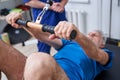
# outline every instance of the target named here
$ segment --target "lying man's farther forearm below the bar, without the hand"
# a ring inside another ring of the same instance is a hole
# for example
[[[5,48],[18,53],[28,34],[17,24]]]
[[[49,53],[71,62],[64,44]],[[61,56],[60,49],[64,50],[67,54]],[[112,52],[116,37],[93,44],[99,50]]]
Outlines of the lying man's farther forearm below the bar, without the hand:
[[[61,39],[56,38],[50,40],[50,33],[48,32],[42,32],[40,29],[35,29],[34,27],[26,28],[26,31],[32,33],[33,36],[36,37],[39,41],[45,42],[46,44],[53,46],[56,49],[59,49],[62,46]]]

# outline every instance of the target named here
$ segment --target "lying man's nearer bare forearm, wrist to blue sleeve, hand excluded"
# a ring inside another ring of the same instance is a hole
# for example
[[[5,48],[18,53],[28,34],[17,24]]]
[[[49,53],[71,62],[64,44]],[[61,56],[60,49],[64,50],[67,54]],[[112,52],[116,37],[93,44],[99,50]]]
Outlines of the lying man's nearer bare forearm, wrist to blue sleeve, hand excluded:
[[[103,65],[107,63],[108,54],[99,49],[89,38],[80,33],[75,40],[82,46],[88,57]]]

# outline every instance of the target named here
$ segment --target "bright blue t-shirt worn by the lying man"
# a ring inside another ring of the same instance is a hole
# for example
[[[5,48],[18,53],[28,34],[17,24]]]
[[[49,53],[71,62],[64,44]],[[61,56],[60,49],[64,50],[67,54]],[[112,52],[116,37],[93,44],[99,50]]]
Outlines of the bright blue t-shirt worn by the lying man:
[[[82,47],[73,41],[62,40],[63,46],[54,56],[57,63],[62,67],[70,80],[94,80],[101,71],[112,66],[112,52],[103,49],[110,56],[106,66],[90,59]]]

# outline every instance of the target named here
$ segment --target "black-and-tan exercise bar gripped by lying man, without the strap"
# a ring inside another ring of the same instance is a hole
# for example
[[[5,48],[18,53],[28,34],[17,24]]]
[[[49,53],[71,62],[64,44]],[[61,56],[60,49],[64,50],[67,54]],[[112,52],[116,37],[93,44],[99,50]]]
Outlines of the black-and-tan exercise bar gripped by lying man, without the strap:
[[[27,26],[27,27],[34,27],[34,28],[42,30],[43,32],[49,32],[51,34],[54,34],[54,26],[36,24],[30,21],[25,21],[21,19],[16,20],[16,23],[19,25]],[[73,30],[70,34],[70,39],[75,39],[76,34],[77,32]]]

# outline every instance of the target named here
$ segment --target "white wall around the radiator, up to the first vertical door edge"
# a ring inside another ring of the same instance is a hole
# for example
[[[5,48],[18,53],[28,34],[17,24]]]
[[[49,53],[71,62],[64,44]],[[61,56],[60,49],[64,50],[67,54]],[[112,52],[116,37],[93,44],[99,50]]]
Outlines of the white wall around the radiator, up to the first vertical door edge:
[[[77,2],[76,2],[77,1]],[[70,0],[66,9],[81,10],[86,13],[86,32],[102,29],[102,0]],[[85,33],[86,33],[85,32]]]

